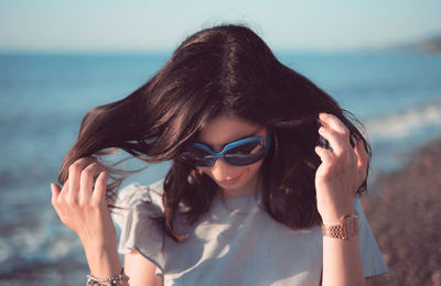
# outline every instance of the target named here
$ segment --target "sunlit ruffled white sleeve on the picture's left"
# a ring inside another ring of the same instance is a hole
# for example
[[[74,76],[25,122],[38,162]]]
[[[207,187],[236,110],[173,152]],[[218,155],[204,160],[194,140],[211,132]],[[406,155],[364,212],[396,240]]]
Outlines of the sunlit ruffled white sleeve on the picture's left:
[[[118,252],[127,254],[131,250],[138,251],[157,265],[157,275],[160,275],[164,266],[164,240],[153,218],[162,215],[162,199],[161,193],[152,186],[135,183],[122,188],[115,200],[116,208],[111,217],[120,229]]]

